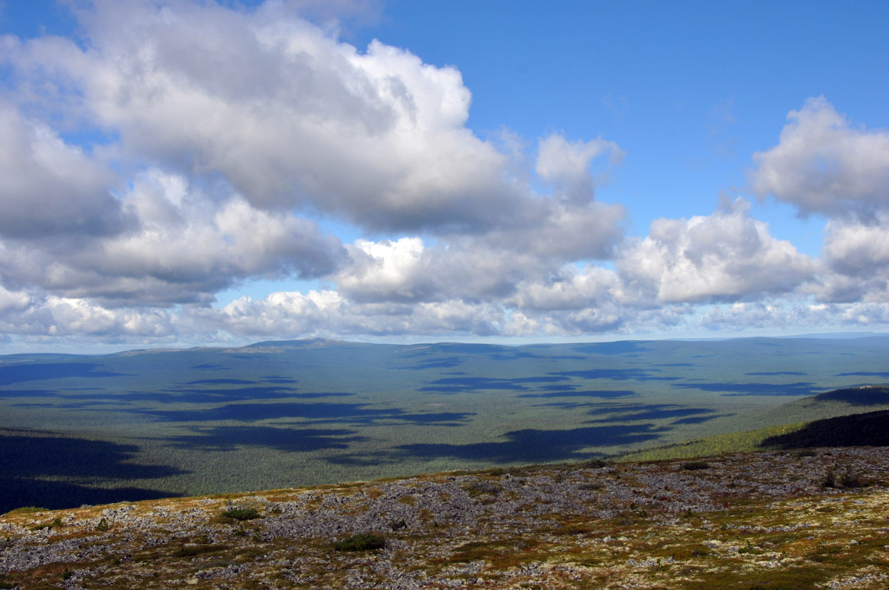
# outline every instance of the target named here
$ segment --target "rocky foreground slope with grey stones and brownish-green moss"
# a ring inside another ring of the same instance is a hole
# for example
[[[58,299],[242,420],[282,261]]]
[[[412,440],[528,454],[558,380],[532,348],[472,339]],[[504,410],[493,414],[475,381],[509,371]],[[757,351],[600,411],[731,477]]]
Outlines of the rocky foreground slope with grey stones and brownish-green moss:
[[[540,466],[0,517],[3,588],[885,588],[889,450]]]

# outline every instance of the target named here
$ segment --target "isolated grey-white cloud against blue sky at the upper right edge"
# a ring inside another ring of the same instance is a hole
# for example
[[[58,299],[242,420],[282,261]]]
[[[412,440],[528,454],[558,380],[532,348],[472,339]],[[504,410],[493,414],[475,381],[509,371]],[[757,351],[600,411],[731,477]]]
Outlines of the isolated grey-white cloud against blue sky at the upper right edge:
[[[803,214],[889,211],[889,132],[850,124],[824,97],[790,111],[781,142],[754,154],[753,189]]]

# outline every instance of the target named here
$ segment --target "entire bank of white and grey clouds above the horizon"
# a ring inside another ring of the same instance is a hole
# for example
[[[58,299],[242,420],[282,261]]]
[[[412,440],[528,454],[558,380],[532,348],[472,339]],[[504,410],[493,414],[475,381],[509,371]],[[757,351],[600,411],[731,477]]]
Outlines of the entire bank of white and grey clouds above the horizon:
[[[617,142],[480,139],[458,69],[344,43],[302,18],[319,5],[97,0],[75,9],[76,40],[0,37],[7,340],[533,339],[889,318],[889,132],[819,97],[752,155],[755,195],[826,219],[820,259],[742,197],[629,235],[627,209],[597,197],[632,157]],[[216,300],[288,278],[317,286]]]

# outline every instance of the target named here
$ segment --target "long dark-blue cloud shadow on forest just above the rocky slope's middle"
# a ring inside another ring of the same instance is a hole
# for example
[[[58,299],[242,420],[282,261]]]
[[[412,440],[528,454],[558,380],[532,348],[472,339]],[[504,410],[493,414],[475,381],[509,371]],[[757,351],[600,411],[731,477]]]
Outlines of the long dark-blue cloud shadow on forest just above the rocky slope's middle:
[[[662,429],[652,424],[633,426],[581,427],[570,430],[515,430],[502,436],[502,442],[474,442],[469,444],[405,444],[395,448],[389,461],[416,459],[457,458],[492,463],[543,463],[589,458],[587,447],[609,447],[646,442],[658,438]],[[370,466],[380,463],[380,457],[348,455],[327,458],[332,463]]]

